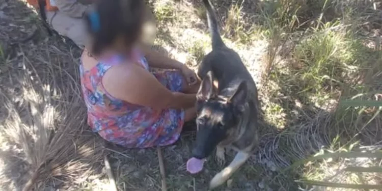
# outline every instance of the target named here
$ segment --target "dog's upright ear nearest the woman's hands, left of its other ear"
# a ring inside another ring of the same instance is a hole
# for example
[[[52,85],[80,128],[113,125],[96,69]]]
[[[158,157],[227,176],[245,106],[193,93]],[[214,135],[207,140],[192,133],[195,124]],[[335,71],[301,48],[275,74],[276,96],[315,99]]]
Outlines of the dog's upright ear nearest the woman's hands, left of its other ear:
[[[207,75],[203,78],[199,91],[196,94],[198,100],[208,100],[215,96],[215,88],[213,87],[213,73],[208,71]]]

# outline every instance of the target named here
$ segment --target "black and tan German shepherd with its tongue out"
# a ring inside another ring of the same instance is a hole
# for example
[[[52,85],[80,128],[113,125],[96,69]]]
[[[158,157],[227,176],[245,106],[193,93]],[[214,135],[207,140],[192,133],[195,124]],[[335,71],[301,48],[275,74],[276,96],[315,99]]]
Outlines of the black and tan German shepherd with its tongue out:
[[[225,148],[237,151],[231,163],[211,180],[209,188],[213,189],[226,182],[257,148],[258,95],[255,81],[239,55],[224,44],[210,2],[203,3],[212,51],[197,72],[202,83],[197,93],[198,132],[192,155],[204,159],[216,147],[217,159],[224,163]]]

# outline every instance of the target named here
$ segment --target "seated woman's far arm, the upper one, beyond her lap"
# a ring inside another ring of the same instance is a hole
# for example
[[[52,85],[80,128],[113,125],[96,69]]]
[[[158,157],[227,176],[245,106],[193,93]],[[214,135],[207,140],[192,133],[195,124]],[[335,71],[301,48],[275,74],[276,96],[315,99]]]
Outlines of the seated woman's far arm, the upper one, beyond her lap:
[[[183,67],[187,67],[184,64],[163,56],[161,53],[152,50],[146,46],[142,47],[143,53],[147,59],[147,62],[151,67],[164,68],[164,69],[178,69],[182,70]]]

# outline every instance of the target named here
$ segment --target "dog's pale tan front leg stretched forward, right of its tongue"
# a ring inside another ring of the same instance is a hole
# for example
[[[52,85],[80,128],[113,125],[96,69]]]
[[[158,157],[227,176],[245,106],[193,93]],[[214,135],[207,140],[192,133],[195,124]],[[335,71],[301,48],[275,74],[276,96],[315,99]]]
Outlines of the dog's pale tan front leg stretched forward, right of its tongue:
[[[217,186],[220,186],[226,182],[232,176],[232,174],[236,172],[244,164],[245,161],[248,160],[249,157],[250,154],[248,153],[244,153],[242,151],[238,152],[230,165],[228,165],[226,168],[220,171],[220,173],[217,173],[212,178],[209,183],[209,188],[216,188]]]

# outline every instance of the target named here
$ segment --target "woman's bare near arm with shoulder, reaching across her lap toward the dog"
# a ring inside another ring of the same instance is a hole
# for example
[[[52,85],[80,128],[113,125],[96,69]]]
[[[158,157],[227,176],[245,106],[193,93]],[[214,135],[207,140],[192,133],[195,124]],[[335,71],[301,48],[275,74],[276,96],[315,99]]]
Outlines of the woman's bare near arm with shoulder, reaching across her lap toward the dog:
[[[171,92],[152,74],[137,65],[111,68],[103,76],[102,83],[114,97],[156,110],[189,108],[196,102],[195,94]]]

